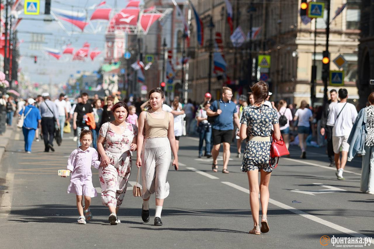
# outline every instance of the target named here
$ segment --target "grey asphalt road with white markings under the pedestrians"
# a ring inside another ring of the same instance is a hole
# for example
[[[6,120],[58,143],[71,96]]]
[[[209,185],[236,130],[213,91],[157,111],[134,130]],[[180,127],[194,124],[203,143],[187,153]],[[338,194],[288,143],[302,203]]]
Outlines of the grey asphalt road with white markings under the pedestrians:
[[[15,132],[0,167],[6,179],[0,186],[1,248],[332,248],[331,242],[321,245],[322,236],[374,237],[374,196],[359,192],[361,158],[348,163],[346,180],[338,181],[324,148],[310,148],[301,160],[298,147],[291,147],[291,158],[281,158],[272,173],[270,231],[252,235],[248,179],[234,146],[230,173],[221,173],[222,160],[214,173],[211,159],[197,158],[198,139],[190,137],[181,138],[180,170],[169,170],[162,227],[153,226],[153,197],[151,221],[142,222],[141,198],[130,190],[135,166],[119,212],[122,223],[108,223],[98,196],[92,198],[93,220],[78,225],[75,196],[66,193],[69,178],[57,175],[76,144],[70,134],[65,137],[54,153],[44,153],[40,141],[25,154],[23,135]],[[99,190],[98,171],[92,172]]]

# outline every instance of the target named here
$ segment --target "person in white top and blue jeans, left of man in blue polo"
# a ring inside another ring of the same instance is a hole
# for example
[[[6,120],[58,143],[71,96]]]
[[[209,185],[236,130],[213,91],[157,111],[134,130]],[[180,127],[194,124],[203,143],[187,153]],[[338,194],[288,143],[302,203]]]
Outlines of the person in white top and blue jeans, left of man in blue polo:
[[[204,156],[210,158],[211,154],[211,138],[212,138],[212,124],[208,122],[208,115],[206,110],[210,107],[210,101],[203,104],[203,109],[200,109],[196,114],[197,131],[199,132],[199,158],[203,156],[203,143],[205,140],[205,154]]]

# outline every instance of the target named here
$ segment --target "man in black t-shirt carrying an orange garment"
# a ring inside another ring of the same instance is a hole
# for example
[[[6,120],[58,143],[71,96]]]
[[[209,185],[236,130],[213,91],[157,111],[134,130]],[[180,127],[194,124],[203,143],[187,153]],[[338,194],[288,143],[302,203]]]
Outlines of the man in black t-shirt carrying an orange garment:
[[[78,131],[78,146],[80,146],[80,132],[82,128],[89,130],[88,125],[86,124],[85,119],[87,118],[87,113],[93,113],[93,109],[91,103],[88,103],[88,94],[82,93],[81,95],[82,102],[78,103],[74,109],[74,116],[73,116],[73,128],[77,129]]]

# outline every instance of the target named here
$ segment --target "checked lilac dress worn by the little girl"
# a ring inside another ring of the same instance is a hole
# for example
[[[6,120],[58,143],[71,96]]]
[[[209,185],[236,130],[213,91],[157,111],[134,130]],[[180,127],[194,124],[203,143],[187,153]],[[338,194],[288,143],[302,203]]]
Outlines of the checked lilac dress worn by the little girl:
[[[97,195],[92,185],[91,166],[99,168],[97,151],[89,147],[83,151],[76,148],[70,154],[67,169],[71,170],[70,185],[67,193],[74,193],[77,196],[95,197]]]

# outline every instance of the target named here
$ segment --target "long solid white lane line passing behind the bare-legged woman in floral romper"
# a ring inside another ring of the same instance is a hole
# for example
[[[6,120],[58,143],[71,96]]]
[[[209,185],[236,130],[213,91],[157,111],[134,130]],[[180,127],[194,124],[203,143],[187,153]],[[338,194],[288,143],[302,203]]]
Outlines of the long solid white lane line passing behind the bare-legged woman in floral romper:
[[[243,188],[243,187],[240,187],[236,184],[233,184],[231,182],[222,182],[223,184],[226,184],[230,187],[233,187],[233,188],[236,188],[237,190],[240,190],[246,194],[249,194],[249,190],[247,188]],[[260,195],[258,195],[260,197]],[[321,219],[321,218],[318,218],[317,216],[314,216],[314,215],[310,215],[309,213],[306,213],[304,211],[301,211],[301,210],[298,210],[298,209],[295,209],[294,207],[291,207],[291,206],[288,206],[288,205],[285,205],[281,202],[278,202],[276,200],[273,200],[273,199],[270,199],[269,198],[269,203],[272,203],[273,205],[275,206],[278,206],[278,207],[281,207],[283,209],[286,209],[292,213],[296,213],[298,215],[301,215],[303,216],[304,218],[307,218],[307,219],[310,219],[312,221],[315,221],[315,222],[318,222],[319,224],[322,224],[322,225],[325,225],[327,227],[330,227],[330,228],[333,228],[335,230],[338,230],[338,231],[341,231],[342,233],[346,233],[346,234],[349,234],[350,236],[353,236],[353,237],[362,237],[362,238],[365,238],[367,236],[365,236],[364,234],[361,234],[361,233],[358,233],[358,232],[355,232],[355,231],[352,231],[352,230],[349,230],[345,227],[341,227],[340,225],[337,225],[337,224],[334,224],[332,222],[329,222],[329,221],[325,221],[324,219]]]

